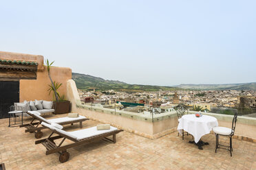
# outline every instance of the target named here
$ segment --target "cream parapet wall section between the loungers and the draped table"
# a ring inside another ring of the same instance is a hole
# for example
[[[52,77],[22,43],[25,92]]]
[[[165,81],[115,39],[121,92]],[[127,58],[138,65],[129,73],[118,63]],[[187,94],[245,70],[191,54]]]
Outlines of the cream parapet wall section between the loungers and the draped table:
[[[147,138],[158,138],[159,136],[173,132],[178,125],[175,112],[166,115],[166,117],[154,117],[152,119],[150,115],[140,115],[123,110],[115,111],[109,108],[83,105],[81,104],[76,84],[73,80],[67,81],[67,99],[72,103],[72,112],[78,112],[89,119],[109,123],[120,129]],[[170,123],[171,121],[173,123]]]

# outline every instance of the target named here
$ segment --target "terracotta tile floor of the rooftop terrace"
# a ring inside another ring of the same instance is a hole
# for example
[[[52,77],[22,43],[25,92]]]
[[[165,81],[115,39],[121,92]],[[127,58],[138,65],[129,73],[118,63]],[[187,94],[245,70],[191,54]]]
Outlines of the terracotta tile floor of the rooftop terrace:
[[[64,116],[64,115],[62,115]],[[55,116],[56,117],[56,116]],[[50,118],[49,116],[47,118]],[[51,117],[52,118],[52,117]],[[26,119],[28,121],[28,119]],[[83,128],[100,124],[85,121]],[[78,124],[65,126],[65,130],[78,130]],[[202,139],[210,145],[199,150],[184,141],[177,133],[151,140],[120,132],[117,143],[98,141],[72,149],[70,160],[58,162],[58,154],[45,156],[43,145],[34,145],[34,134],[25,128],[8,127],[8,119],[0,119],[0,162],[6,169],[256,169],[256,143],[233,139],[233,157],[224,149],[215,154],[215,136],[208,134]],[[43,130],[44,136],[50,130]],[[221,142],[228,140],[221,138]]]

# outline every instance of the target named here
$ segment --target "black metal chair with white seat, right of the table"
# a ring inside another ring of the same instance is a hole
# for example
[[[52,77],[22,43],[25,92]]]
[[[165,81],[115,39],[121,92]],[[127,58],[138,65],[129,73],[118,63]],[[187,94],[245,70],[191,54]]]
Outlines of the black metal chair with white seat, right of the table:
[[[213,132],[215,133],[216,136],[216,147],[215,147],[215,153],[217,152],[217,149],[226,149],[228,151],[231,152],[231,156],[232,156],[232,151],[233,151],[233,147],[232,147],[232,136],[235,134],[235,125],[237,123],[237,113],[235,113],[234,117],[233,117],[233,121],[232,121],[232,128],[228,128],[228,127],[213,127]],[[222,136],[228,136],[230,143],[229,146],[227,145],[220,145],[219,143],[219,135]],[[224,147],[224,148],[222,148]]]

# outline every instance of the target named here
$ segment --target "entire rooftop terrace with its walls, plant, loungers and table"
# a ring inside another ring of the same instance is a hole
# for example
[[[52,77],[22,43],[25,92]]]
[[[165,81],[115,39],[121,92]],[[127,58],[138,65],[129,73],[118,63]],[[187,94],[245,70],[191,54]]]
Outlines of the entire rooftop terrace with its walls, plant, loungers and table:
[[[86,105],[55,64],[0,51],[0,169],[256,169],[255,118]]]

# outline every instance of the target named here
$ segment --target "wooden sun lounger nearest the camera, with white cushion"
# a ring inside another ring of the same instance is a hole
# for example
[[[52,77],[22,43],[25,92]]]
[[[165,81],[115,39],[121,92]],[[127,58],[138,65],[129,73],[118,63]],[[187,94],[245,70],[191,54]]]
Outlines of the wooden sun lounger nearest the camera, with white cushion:
[[[101,134],[96,134],[95,136],[88,136],[88,137],[79,139],[79,138],[76,138],[76,136],[73,136],[72,133],[74,134],[76,132],[78,132],[78,133],[82,132],[82,134],[83,134],[83,131],[89,130],[92,128],[96,128],[96,127],[90,127],[90,128],[84,129],[84,130],[76,130],[74,132],[65,132],[56,127],[52,128],[52,125],[47,124],[47,123],[42,123],[42,125],[43,125],[43,127],[47,127],[50,130],[52,130],[52,134],[50,134],[50,136],[48,138],[44,138],[39,141],[35,141],[35,144],[41,143],[43,146],[45,146],[45,148],[47,149],[46,155],[54,154],[54,153],[60,154],[58,160],[62,163],[66,162],[70,158],[70,154],[67,152],[67,149],[76,147],[78,145],[83,145],[85,143],[98,141],[100,139],[103,139],[104,141],[108,141],[111,143],[116,143],[116,134],[123,131],[123,130],[116,129],[115,127],[111,127],[111,128],[113,128],[113,130],[111,132],[105,132],[108,130],[103,130],[103,131],[100,130],[102,132]],[[54,133],[58,134],[58,136],[52,136]],[[86,136],[86,133],[85,133],[85,136]],[[112,136],[112,139],[107,138],[108,136]],[[59,139],[59,138],[63,138],[63,140],[58,145],[56,145],[54,140]],[[74,143],[62,146],[65,139],[69,139],[70,141],[73,141]]]

